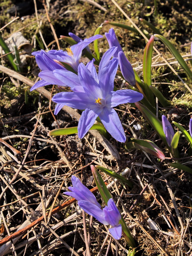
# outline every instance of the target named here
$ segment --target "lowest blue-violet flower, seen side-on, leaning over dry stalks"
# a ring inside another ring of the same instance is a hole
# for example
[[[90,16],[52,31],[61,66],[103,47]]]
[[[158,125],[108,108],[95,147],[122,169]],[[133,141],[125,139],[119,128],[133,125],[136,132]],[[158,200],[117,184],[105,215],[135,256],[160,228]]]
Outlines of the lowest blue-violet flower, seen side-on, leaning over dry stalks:
[[[115,239],[120,239],[122,234],[122,227],[119,224],[121,214],[118,211],[113,199],[108,200],[107,206],[101,210],[100,204],[97,202],[96,197],[86,188],[81,181],[72,176],[71,178],[73,187],[68,187],[72,192],[65,192],[68,196],[73,196],[78,205],[88,214],[92,215],[95,219],[99,220],[104,225],[111,225],[109,232]]]

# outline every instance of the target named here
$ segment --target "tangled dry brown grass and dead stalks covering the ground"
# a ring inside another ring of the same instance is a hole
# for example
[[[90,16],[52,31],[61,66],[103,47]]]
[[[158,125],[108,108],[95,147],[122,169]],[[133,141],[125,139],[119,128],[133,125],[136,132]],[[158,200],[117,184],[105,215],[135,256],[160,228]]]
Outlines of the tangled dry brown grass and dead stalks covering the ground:
[[[41,33],[41,22],[47,19],[54,41],[44,44],[51,47],[55,42],[58,45],[60,38],[57,38],[51,24],[49,6],[44,3],[44,7],[45,16],[41,18],[38,17],[36,9],[36,33],[45,42]],[[133,20],[130,21],[135,24]],[[34,40],[35,37],[33,42]],[[189,54],[182,55],[190,58]],[[152,66],[155,69],[164,66],[168,72],[175,73],[183,84],[182,90],[187,92],[185,86],[188,87],[188,84],[180,76],[182,70],[178,68],[177,61],[160,57],[161,53],[157,50]],[[172,64],[175,66],[171,66]],[[133,65],[138,72],[142,70],[141,60]],[[168,67],[171,67],[171,71]],[[6,68],[5,62],[2,62],[0,68],[3,72],[1,90],[9,78],[14,79],[12,81],[15,86],[34,84],[29,78]],[[159,79],[158,76],[156,79]],[[124,86],[119,77],[115,82],[117,87]],[[156,83],[161,86],[166,84],[159,80],[154,84]],[[175,78],[167,84],[178,86],[178,81]],[[112,139],[108,141],[97,131],[90,131],[82,140],[77,135],[54,138],[47,136],[52,127],[76,126],[80,114],[65,106],[63,112],[54,117],[51,98],[57,89],[39,88],[37,91],[40,96],[33,111],[21,116],[4,116],[1,119],[0,255],[129,255],[124,238],[114,240],[105,225],[87,214],[84,215],[76,200],[68,200],[68,196],[62,193],[70,185],[72,174],[77,175],[96,192],[90,165],[98,164],[121,173],[134,183],[130,190],[102,174],[138,242],[138,255],[191,256],[191,176],[169,168],[167,162],[171,158],[168,153],[165,154],[166,159],[159,162],[142,151],[127,152],[122,144]],[[134,106],[121,105],[116,111],[127,136],[151,139],[165,152],[158,136],[147,126]],[[132,130],[132,125],[137,123],[142,125],[141,131]],[[186,157],[188,145],[184,139],[182,142],[181,161],[191,165],[191,158]],[[95,195],[102,204],[99,194]]]

